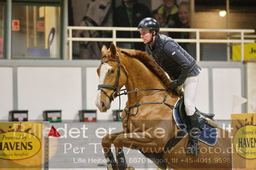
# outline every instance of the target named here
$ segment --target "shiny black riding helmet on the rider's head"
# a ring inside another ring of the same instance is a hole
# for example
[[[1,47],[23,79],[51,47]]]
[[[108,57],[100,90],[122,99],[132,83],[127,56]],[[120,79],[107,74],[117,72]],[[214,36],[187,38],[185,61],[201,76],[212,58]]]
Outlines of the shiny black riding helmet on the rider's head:
[[[150,30],[150,31],[159,31],[159,24],[157,22],[157,20],[151,18],[151,17],[147,17],[145,19],[142,19],[141,22],[139,22],[138,25],[138,31],[140,30]]]

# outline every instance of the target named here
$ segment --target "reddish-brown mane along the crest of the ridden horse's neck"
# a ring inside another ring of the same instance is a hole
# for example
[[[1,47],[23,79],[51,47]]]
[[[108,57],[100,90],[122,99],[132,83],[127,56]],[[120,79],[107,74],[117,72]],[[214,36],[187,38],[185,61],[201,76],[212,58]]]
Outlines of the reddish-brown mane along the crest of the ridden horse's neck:
[[[141,61],[151,72],[155,73],[160,78],[160,81],[164,83],[164,86],[168,88],[171,84],[171,80],[167,77],[166,73],[160,66],[156,65],[153,59],[148,56],[146,52],[141,50],[119,49],[121,53],[126,54],[132,58],[136,58]]]

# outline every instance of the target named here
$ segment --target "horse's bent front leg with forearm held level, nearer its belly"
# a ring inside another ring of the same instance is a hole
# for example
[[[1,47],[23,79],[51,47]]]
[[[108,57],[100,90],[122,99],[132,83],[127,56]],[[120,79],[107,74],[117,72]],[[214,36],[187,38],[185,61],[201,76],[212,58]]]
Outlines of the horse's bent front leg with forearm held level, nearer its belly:
[[[160,140],[159,140],[160,139]],[[118,169],[126,169],[127,162],[124,157],[123,147],[140,149],[143,152],[161,152],[167,143],[165,137],[157,138],[154,135],[145,135],[144,132],[119,134],[114,139],[115,153]]]

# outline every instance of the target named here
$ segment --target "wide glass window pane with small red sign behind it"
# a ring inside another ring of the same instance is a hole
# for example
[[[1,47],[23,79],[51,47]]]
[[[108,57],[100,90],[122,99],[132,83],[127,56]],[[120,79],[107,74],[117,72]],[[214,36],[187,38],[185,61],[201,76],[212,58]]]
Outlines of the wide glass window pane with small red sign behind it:
[[[12,58],[60,58],[60,7],[12,7]]]

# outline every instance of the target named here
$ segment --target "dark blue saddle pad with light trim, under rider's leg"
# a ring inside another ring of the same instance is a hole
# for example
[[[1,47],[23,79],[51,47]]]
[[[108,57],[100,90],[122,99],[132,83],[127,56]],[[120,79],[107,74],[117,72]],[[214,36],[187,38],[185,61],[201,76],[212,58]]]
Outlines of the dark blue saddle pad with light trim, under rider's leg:
[[[183,99],[181,98],[180,100],[183,100]],[[175,119],[175,122],[178,128],[182,129],[182,127],[184,127],[184,123],[180,118],[180,113],[179,113],[180,109],[178,105],[183,104],[183,102],[179,102],[180,100],[178,100],[178,102],[175,104],[175,109],[173,109],[173,117]],[[203,125],[199,140],[205,144],[214,146],[214,144],[216,144],[218,140],[217,128],[211,127],[208,124]]]

